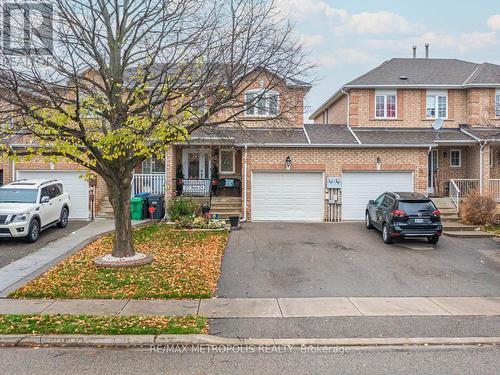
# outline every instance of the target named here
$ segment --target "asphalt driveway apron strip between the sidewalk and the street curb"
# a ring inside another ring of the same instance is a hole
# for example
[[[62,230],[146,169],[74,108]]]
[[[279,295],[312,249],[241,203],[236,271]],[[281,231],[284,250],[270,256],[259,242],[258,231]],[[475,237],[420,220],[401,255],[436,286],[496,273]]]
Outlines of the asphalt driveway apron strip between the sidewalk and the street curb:
[[[211,319],[209,327],[222,337],[500,337],[500,316]]]

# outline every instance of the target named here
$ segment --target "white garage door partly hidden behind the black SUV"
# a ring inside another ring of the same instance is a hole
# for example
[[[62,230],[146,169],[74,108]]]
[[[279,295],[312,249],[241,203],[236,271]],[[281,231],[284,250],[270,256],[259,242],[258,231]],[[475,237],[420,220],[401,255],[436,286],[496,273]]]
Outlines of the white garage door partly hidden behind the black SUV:
[[[413,191],[411,172],[349,172],[342,176],[342,220],[363,220],[370,199],[386,191]]]

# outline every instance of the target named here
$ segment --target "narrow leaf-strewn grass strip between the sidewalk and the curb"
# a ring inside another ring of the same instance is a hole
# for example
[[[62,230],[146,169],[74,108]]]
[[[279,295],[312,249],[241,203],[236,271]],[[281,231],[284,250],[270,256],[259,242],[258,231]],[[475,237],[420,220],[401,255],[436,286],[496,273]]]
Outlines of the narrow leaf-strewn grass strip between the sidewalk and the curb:
[[[0,334],[159,335],[206,333],[195,316],[0,315]]]

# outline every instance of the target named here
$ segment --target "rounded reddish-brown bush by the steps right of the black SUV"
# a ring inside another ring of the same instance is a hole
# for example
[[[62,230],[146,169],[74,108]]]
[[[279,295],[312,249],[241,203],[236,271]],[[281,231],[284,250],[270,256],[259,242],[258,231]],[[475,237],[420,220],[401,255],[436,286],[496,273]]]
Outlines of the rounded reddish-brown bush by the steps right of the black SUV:
[[[495,221],[496,202],[477,192],[467,196],[460,204],[460,214],[465,224],[485,225]]]

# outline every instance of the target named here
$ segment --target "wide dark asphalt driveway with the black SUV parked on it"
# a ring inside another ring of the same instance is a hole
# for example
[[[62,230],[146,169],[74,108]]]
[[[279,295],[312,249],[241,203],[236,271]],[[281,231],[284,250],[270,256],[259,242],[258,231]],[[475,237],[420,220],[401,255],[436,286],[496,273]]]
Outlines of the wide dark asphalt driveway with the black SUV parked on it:
[[[219,297],[498,296],[500,243],[386,245],[362,223],[247,223],[230,235]]]

